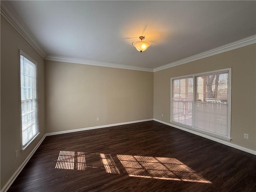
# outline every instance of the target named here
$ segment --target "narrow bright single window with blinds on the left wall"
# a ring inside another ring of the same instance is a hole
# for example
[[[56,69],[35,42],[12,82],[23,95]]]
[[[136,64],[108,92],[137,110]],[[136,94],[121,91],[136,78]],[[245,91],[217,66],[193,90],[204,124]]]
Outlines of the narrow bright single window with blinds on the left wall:
[[[20,52],[20,97],[22,147],[25,148],[38,134],[36,62]]]

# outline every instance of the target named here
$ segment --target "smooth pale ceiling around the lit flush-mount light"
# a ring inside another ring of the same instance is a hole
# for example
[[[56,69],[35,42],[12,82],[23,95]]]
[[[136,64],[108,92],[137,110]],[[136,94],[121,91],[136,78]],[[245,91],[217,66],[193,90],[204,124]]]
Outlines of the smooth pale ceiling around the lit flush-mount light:
[[[157,68],[256,34],[256,1],[9,3],[46,58]],[[151,42],[142,53],[139,36]]]

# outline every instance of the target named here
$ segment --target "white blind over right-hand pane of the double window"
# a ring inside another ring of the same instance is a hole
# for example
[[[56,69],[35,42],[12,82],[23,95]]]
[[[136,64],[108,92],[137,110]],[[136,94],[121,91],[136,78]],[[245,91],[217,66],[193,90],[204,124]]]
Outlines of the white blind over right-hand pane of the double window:
[[[196,76],[194,127],[228,136],[228,72]]]

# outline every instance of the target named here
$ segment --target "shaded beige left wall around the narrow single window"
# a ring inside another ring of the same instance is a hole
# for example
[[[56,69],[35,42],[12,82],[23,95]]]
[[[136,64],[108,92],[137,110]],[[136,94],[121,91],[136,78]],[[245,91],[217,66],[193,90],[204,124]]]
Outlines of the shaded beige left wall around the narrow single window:
[[[40,135],[22,153],[19,49],[37,62]],[[44,136],[44,59],[1,16],[1,189]],[[18,158],[15,159],[15,151]]]

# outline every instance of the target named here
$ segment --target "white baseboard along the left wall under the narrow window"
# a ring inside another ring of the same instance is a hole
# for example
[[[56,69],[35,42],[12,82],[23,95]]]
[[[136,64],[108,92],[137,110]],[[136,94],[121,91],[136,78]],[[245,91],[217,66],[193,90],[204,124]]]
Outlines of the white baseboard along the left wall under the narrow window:
[[[27,156],[27,158],[24,160],[24,162],[19,166],[19,168],[14,172],[14,174],[11,176],[11,178],[8,180],[8,182],[4,185],[4,187],[2,188],[1,192],[6,192],[10,186],[12,185],[12,183],[14,182],[14,180],[17,178],[17,176],[20,174],[20,172],[22,171],[22,169],[26,166],[26,164],[28,163],[28,161],[30,160],[30,158],[32,157],[32,155],[36,152],[37,148],[40,146],[40,144],[43,142],[44,138],[46,137],[46,135],[44,135],[42,137],[42,139],[38,142],[38,144],[36,144],[36,146],[34,147],[34,149],[30,152],[30,154]]]

